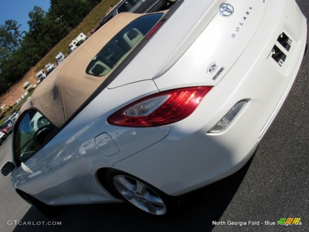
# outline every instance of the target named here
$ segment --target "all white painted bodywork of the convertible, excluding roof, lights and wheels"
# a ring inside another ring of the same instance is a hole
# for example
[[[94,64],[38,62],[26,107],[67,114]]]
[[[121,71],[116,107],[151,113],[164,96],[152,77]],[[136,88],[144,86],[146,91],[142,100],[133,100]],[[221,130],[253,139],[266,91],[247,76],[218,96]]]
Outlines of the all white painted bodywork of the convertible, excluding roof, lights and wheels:
[[[116,79],[31,158],[35,164],[12,172],[14,187],[49,205],[117,202],[98,183],[100,168],[125,171],[180,195],[244,165],[296,78],[307,25],[293,0],[227,2],[235,7],[231,17],[218,14],[221,1],[185,0]],[[293,42],[280,67],[271,51],[282,31]],[[176,36],[167,40],[169,34]],[[212,63],[216,72],[224,67],[216,79],[215,71],[207,73]],[[147,128],[107,123],[142,97],[199,85],[214,88],[179,122]],[[247,105],[226,131],[208,133],[243,99],[249,99]]]

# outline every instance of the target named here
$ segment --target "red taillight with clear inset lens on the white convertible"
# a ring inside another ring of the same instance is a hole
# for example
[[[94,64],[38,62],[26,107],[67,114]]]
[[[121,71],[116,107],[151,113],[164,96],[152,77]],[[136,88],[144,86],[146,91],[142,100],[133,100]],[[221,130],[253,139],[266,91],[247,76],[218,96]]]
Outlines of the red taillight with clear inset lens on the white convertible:
[[[118,110],[107,122],[124,127],[157,127],[178,122],[193,113],[211,88],[201,86],[159,92]]]

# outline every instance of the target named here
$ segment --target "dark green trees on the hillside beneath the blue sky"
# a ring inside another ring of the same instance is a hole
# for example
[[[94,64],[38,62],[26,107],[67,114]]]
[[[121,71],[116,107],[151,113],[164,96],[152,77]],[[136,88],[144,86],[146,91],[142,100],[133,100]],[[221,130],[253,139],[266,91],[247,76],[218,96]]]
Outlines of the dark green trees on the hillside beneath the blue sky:
[[[15,20],[6,20],[0,25],[0,94],[56,45],[68,31],[55,20],[72,30],[100,0],[50,0],[48,12],[34,6],[29,12],[29,31],[20,32],[21,25]],[[77,35],[76,35],[77,36]]]

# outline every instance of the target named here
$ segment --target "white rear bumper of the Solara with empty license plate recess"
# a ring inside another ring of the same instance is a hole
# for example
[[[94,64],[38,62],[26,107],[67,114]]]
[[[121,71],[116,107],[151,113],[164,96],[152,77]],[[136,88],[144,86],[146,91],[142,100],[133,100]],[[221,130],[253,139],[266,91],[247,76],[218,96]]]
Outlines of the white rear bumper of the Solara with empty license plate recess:
[[[171,125],[166,138],[113,168],[133,174],[169,195],[181,195],[234,173],[248,161],[286,99],[306,47],[306,19],[295,2],[286,1],[273,27],[267,25],[274,21],[272,2],[268,4],[250,44],[197,110]],[[293,43],[279,66],[271,51],[281,32],[287,33]],[[208,133],[243,99],[250,101],[226,131]]]

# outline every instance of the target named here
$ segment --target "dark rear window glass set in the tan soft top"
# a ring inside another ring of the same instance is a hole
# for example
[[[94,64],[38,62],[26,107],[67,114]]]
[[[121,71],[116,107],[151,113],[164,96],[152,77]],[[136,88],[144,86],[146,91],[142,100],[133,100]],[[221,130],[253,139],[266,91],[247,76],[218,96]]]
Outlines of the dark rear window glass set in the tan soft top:
[[[163,13],[143,15],[118,32],[89,63],[86,73],[104,76],[112,71],[161,19]]]

